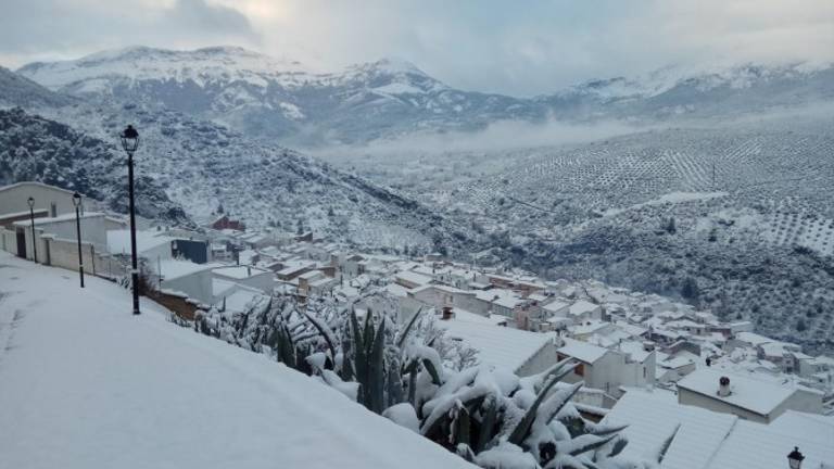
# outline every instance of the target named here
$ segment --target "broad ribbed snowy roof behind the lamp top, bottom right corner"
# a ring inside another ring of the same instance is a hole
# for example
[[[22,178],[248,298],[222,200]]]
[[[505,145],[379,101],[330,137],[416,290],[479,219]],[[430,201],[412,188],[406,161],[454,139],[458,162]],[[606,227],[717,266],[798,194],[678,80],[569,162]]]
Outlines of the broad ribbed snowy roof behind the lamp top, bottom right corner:
[[[669,438],[665,469],[787,469],[787,454],[799,446],[803,467],[834,461],[834,422],[787,410],[769,424],[677,402],[671,392],[629,390],[602,423],[627,426],[626,458],[656,454]]]

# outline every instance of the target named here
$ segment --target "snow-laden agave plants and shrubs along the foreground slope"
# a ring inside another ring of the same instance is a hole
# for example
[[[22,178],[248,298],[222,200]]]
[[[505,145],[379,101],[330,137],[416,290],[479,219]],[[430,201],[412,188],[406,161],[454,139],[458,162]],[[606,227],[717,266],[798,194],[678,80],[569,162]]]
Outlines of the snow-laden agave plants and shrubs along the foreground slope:
[[[386,297],[362,305],[389,305]],[[390,305],[389,305],[390,306]],[[451,341],[418,310],[397,327],[393,309],[301,304],[289,296],[253,302],[247,312],[212,309],[194,321],[203,333],[273,355],[412,431],[483,468],[648,468],[621,460],[624,427],[583,419],[571,404],[582,383],[561,382],[563,360],[532,377],[443,356]],[[433,316],[433,315],[432,315]],[[438,347],[439,343],[444,343]],[[670,442],[671,443],[671,440]],[[662,458],[668,444],[658,453]]]

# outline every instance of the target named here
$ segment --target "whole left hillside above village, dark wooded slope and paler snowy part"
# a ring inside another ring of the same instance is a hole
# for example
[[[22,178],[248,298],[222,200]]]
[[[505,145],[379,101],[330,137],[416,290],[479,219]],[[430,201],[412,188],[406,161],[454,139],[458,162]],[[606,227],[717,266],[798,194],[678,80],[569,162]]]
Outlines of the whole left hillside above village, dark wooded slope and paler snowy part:
[[[22,79],[10,96],[56,96]],[[220,125],[157,103],[90,102],[0,111],[0,185],[42,180],[77,189],[124,212],[118,132],[137,126],[140,213],[186,221],[219,206],[251,227],[313,230],[372,248],[465,245],[471,234],[451,219],[362,177],[283,147],[258,142]],[[184,211],[185,210],[185,211]]]

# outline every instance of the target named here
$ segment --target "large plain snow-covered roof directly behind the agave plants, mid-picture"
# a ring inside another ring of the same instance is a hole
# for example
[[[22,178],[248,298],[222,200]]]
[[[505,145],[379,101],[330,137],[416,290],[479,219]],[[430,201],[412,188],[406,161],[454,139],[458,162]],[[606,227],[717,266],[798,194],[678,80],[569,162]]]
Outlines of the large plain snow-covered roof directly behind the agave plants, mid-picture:
[[[528,332],[503,326],[455,319],[441,320],[438,324],[446,329],[448,337],[462,339],[478,350],[481,363],[510,371],[521,368],[554,340],[553,334]]]

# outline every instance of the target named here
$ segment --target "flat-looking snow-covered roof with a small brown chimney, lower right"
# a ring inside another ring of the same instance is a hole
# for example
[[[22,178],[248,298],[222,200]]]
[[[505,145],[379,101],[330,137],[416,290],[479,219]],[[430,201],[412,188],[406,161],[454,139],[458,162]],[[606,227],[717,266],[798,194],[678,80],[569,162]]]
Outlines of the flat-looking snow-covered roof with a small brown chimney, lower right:
[[[719,396],[718,381],[724,376],[730,378],[731,393],[729,396]],[[782,386],[772,381],[712,368],[699,368],[691,372],[678,382],[678,389],[693,391],[763,416],[796,392],[794,388]]]

